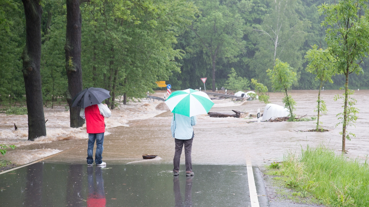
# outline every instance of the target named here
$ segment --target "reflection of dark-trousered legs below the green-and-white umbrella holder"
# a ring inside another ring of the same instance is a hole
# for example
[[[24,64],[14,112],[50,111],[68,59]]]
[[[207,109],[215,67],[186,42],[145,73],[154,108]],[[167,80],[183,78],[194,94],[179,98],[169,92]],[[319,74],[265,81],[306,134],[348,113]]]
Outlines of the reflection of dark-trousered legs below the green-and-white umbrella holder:
[[[190,207],[192,206],[192,176],[186,178],[186,187],[184,191],[184,203],[182,203],[181,190],[179,187],[179,179],[177,176],[173,178],[173,192],[175,207]]]

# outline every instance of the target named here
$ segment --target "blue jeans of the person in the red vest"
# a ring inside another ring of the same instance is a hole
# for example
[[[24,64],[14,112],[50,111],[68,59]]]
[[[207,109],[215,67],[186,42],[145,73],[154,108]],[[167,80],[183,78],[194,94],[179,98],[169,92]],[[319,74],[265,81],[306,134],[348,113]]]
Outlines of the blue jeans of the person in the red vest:
[[[103,162],[103,143],[104,143],[104,133],[98,134],[89,134],[89,147],[87,148],[87,164],[93,163],[93,146],[95,145],[96,140],[96,152],[95,152],[95,163],[96,165],[101,164]]]

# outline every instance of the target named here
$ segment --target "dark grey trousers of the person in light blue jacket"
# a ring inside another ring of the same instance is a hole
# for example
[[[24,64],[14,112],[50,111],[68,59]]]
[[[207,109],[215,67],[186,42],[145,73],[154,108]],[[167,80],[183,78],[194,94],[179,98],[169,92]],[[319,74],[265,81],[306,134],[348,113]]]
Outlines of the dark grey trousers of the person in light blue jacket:
[[[175,153],[174,153],[174,159],[173,159],[173,171],[179,171],[179,162],[181,159],[182,154],[182,148],[184,145],[184,157],[186,160],[186,171],[192,172],[192,161],[191,161],[191,151],[192,151],[192,141],[193,137],[189,140],[179,140],[174,138],[174,141],[176,143]]]

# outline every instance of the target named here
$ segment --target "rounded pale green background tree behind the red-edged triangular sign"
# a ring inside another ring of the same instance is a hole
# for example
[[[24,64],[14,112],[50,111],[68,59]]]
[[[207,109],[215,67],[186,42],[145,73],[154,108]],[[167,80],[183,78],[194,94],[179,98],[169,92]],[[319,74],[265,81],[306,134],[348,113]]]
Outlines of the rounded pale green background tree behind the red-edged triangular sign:
[[[211,68],[214,91],[217,62],[236,62],[237,56],[244,50],[244,20],[238,9],[227,1],[196,0],[195,5],[201,13],[189,28],[194,33],[196,45],[193,46],[200,46],[207,67]],[[188,49],[196,50],[192,47]]]

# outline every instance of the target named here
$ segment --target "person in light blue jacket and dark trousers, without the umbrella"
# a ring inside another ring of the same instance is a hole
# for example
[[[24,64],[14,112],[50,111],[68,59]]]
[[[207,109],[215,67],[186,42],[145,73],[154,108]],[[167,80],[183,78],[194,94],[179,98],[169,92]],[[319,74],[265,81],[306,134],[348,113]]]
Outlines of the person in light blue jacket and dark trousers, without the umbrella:
[[[170,130],[172,131],[172,137],[175,141],[175,154],[173,158],[173,174],[178,175],[179,162],[182,154],[182,148],[184,145],[184,156],[186,159],[186,176],[194,175],[192,172],[191,150],[194,132],[193,126],[196,125],[196,116],[188,117],[173,113],[172,123],[170,124]]]

